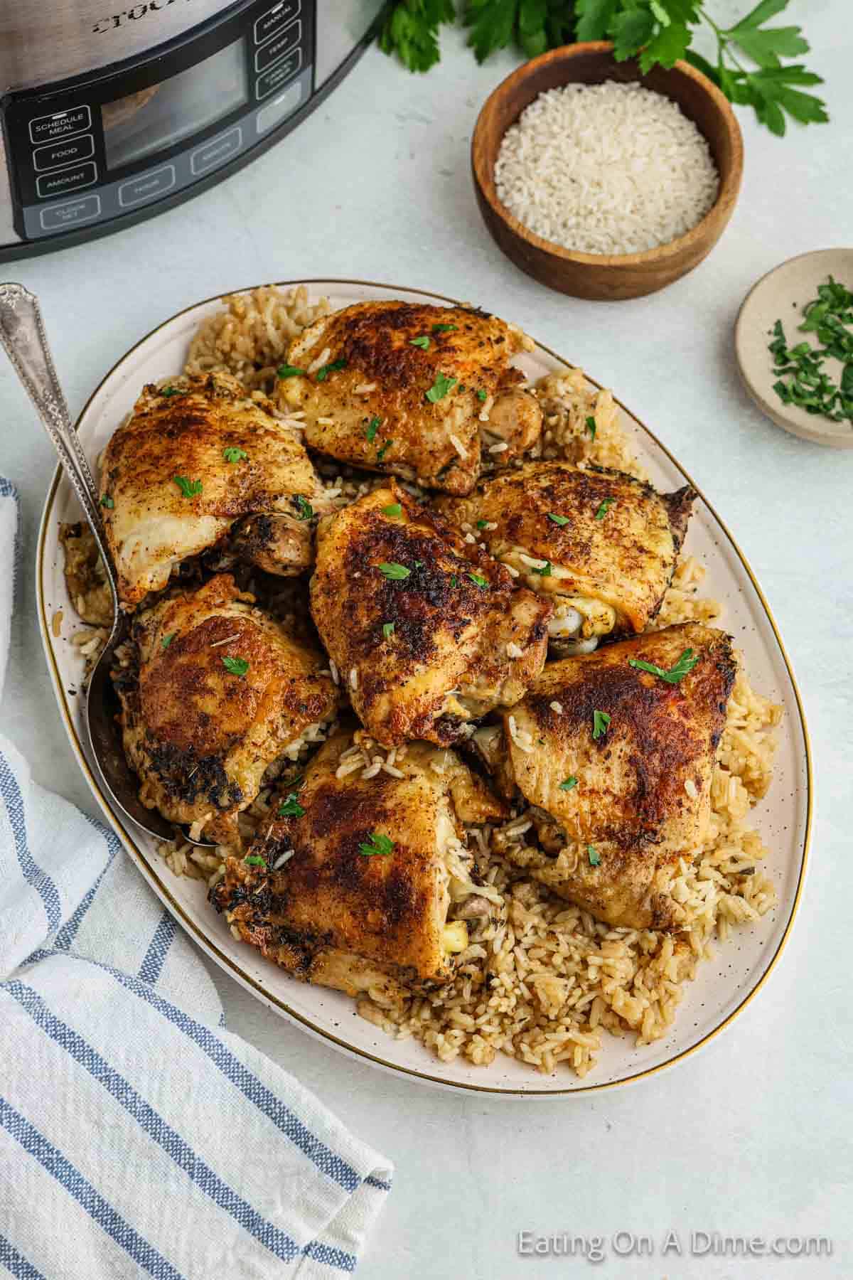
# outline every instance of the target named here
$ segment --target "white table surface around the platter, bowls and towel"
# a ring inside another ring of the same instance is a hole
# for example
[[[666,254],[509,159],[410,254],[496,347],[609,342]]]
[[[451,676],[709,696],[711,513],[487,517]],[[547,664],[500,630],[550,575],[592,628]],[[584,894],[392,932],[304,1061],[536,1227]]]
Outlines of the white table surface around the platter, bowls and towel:
[[[725,17],[726,5],[711,5]],[[743,13],[744,4],[728,12]],[[738,384],[733,324],[749,285],[811,248],[850,244],[853,28],[847,0],[794,0],[833,123],[784,141],[740,113],[746,174],[711,257],[664,293],[590,303],[535,284],[486,236],[468,147],[514,65],[478,68],[459,36],[414,77],[368,51],[294,134],[200,198],[120,236],[0,268],[42,301],[72,412],[142,334],[198,298],[299,276],[361,276],[469,298],[616,389],[697,479],[762,582],[806,699],[817,810],[799,922],[763,993],[670,1073],[552,1102],[450,1094],[393,1079],[280,1020],[214,970],[229,1025],[286,1065],[394,1158],[396,1183],[364,1280],[583,1274],[524,1258],[515,1233],[647,1233],[646,1277],[853,1275],[849,983],[853,897],[853,453],[801,443]],[[850,282],[847,282],[848,284]],[[0,365],[0,475],[19,486],[26,573],[0,722],[46,786],[95,812],[54,704],[33,600],[37,521],[54,467]],[[206,963],[200,960],[200,963]],[[675,1229],[684,1256],[661,1257]],[[827,1235],[831,1260],[688,1256],[689,1233]],[[595,1267],[592,1267],[595,1270]]]

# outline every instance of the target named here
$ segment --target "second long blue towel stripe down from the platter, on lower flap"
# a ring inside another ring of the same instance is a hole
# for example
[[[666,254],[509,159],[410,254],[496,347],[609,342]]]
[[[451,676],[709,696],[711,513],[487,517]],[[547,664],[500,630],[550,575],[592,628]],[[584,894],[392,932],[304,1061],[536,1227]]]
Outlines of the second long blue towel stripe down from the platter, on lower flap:
[[[231,1190],[189,1143],[151,1107],[141,1094],[110,1064],[88,1044],[72,1027],[56,1018],[45,1005],[38,992],[22,982],[8,982],[0,991],[8,991],[41,1030],[74,1059],[92,1079],[104,1085],[110,1097],[133,1116],[139,1128],[174,1160],[180,1170],[219,1208],[229,1213],[239,1226],[263,1244],[276,1258],[290,1262],[299,1252],[294,1240],[269,1222],[257,1210]],[[354,1258],[352,1260],[354,1265]],[[352,1270],[352,1268],[350,1268]]]

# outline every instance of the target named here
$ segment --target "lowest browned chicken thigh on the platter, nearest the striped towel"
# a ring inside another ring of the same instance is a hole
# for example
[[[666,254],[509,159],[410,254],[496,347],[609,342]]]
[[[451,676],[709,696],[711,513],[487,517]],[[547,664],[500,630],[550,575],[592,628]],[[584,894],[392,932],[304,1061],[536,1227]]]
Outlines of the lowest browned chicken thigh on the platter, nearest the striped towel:
[[[505,809],[453,751],[426,742],[399,754],[394,774],[362,777],[364,737],[325,744],[210,896],[244,942],[297,977],[391,995],[449,978],[468,946],[466,918],[501,904],[472,878],[462,823]]]

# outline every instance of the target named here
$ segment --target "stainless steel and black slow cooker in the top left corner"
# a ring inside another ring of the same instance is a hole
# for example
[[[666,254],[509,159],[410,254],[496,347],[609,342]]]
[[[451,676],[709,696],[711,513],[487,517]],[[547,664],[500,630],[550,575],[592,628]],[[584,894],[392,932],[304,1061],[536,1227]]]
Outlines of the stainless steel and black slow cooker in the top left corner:
[[[345,76],[381,0],[0,0],[0,261],[205,191]]]

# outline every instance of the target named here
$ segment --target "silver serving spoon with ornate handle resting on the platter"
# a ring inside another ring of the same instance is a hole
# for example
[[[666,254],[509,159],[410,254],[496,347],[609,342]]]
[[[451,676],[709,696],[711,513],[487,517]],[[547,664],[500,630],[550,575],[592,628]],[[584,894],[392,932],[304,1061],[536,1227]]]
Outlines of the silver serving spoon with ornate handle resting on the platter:
[[[116,645],[128,636],[128,617],[119,609],[119,593],[106,549],[95,477],[72,425],[65,397],[56,378],[38,300],[24,289],[23,284],[0,284],[0,343],[36,406],[36,412],[54,443],[65,475],[74,486],[101,553],[113,595],[113,626],[106,646],[90,676],[86,695],[84,719],[92,755],[116,809],[132,818],[155,840],[173,840],[175,827],[156,809],[146,809],[141,803],[139,780],[124,758],[116,722],[119,700],[113,687],[110,669]],[[185,828],[184,837],[189,840]],[[193,840],[192,844],[206,842]]]

